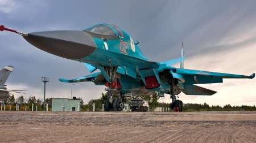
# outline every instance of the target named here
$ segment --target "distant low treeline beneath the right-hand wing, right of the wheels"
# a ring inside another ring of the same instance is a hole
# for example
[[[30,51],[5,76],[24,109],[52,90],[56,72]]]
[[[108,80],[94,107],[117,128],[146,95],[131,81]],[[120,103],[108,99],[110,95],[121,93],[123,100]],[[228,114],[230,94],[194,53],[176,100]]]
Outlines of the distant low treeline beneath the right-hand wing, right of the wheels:
[[[254,106],[247,106],[247,105],[242,105],[242,106],[231,106],[230,104],[225,105],[223,107],[219,105],[215,106],[209,106],[207,103],[204,104],[193,104],[193,103],[187,103],[184,104],[183,111],[256,111],[256,107]]]

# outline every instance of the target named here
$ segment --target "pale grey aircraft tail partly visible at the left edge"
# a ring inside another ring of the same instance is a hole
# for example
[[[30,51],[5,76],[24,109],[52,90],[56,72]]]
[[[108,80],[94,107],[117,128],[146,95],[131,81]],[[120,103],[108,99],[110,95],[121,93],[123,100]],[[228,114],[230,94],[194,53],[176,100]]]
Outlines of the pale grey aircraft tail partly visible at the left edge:
[[[8,79],[11,72],[13,72],[13,66],[5,66],[0,70],[0,101],[9,98],[9,92],[16,92],[16,93],[24,93],[19,91],[27,91],[27,90],[11,90],[7,89],[5,85],[6,80]]]

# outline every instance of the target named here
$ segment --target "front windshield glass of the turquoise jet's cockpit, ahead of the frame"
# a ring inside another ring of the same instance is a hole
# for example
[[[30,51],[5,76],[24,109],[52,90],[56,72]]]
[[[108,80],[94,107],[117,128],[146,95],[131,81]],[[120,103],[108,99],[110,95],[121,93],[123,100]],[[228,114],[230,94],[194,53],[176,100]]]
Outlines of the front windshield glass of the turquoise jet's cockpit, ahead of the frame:
[[[106,25],[97,25],[97,26],[92,27],[92,28],[90,28],[86,31],[96,33],[96,34],[105,34],[105,35],[109,35],[109,36],[117,36],[117,34],[115,34],[115,32]]]

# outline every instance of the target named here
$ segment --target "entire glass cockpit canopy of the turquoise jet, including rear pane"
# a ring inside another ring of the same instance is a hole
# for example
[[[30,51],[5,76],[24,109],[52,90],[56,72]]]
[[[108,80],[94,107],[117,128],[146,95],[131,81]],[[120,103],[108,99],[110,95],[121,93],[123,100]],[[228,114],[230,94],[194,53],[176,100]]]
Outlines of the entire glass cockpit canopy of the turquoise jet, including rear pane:
[[[121,29],[113,24],[98,24],[88,29],[85,29],[84,31],[92,32],[96,34],[104,34],[108,36],[124,37]]]

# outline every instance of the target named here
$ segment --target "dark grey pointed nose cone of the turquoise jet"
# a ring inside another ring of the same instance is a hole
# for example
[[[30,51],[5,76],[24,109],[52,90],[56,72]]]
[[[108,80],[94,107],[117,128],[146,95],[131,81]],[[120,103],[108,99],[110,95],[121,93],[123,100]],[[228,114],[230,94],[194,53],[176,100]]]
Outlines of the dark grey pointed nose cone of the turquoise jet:
[[[84,58],[97,47],[92,37],[82,31],[33,32],[24,38],[43,51],[67,59]]]

